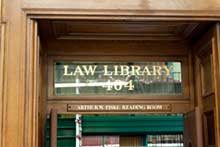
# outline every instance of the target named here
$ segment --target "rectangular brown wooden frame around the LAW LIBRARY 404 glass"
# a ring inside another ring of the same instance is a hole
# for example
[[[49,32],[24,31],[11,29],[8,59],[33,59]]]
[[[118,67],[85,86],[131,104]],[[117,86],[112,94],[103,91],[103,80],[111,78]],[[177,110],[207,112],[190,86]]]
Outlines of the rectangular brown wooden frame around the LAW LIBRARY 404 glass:
[[[123,57],[123,58],[122,58]],[[117,60],[116,60],[117,59]],[[115,56],[92,56],[90,59],[87,56],[61,56],[61,57],[50,57],[48,59],[48,100],[73,100],[73,101],[86,101],[86,100],[97,100],[98,101],[118,101],[118,100],[190,100],[189,93],[189,71],[188,71],[188,59],[187,57],[173,57],[167,55],[163,56],[121,56],[120,58]],[[88,96],[55,96],[54,95],[54,70],[53,65],[55,61],[180,61],[182,64],[182,84],[183,84],[183,92],[182,95],[88,95]]]

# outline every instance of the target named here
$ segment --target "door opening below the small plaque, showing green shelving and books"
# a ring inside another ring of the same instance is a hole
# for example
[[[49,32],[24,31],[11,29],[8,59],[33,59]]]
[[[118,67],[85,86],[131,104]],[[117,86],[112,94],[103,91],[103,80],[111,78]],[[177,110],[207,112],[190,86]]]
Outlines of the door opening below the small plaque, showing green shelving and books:
[[[75,115],[58,115],[57,146],[75,147]],[[81,147],[183,147],[183,115],[82,115]],[[50,117],[46,147],[50,146]]]

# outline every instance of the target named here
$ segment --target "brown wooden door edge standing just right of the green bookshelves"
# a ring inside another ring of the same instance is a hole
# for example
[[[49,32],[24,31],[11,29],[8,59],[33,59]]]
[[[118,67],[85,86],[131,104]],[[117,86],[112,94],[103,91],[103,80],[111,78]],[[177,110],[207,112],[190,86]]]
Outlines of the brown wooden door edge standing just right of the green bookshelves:
[[[184,147],[203,147],[202,119],[198,107],[184,115]]]

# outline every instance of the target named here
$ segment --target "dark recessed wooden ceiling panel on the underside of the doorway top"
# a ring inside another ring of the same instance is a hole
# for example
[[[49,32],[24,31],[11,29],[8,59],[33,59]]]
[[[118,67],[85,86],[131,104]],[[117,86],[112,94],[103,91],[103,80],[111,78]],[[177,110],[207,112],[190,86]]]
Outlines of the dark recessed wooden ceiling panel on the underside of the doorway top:
[[[210,26],[208,22],[42,20],[44,36],[57,40],[193,40]]]

